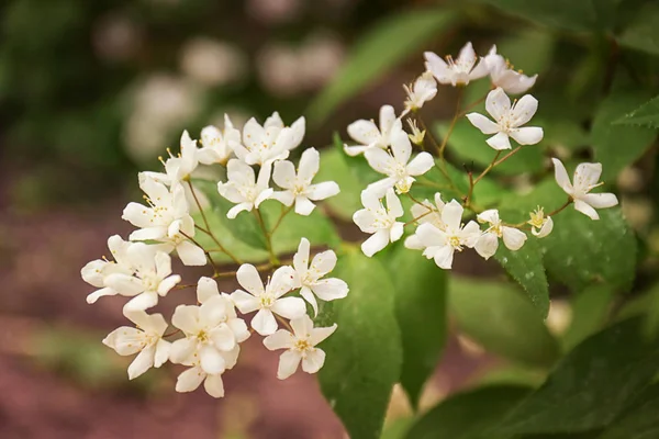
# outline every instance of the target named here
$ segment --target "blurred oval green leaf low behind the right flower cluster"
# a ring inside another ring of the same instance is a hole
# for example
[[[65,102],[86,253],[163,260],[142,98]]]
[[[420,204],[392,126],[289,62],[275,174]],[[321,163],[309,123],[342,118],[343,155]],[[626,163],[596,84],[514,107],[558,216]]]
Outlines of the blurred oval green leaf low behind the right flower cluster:
[[[459,328],[485,349],[532,367],[558,360],[557,340],[512,284],[451,277],[448,297]]]

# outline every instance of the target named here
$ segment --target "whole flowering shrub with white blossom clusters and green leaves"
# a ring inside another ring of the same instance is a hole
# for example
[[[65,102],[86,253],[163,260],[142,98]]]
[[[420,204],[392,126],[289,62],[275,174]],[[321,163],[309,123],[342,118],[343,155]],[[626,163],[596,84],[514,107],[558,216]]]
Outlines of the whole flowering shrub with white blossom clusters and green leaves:
[[[344,144],[337,136],[334,149],[303,146],[304,117],[286,126],[272,113],[263,125],[250,119],[239,131],[226,116],[223,130],[205,127],[201,140],[185,132],[180,153],[163,160],[164,172],[139,173],[146,204],[130,203],[122,216],[137,229],[129,240],[112,236],[111,259],[82,269],[82,278],[98,289],[89,303],[105,295],[131,297],[123,313],[135,327],[115,329],[103,340],[119,354],[137,353],[131,379],[169,361],[187,368],[176,391],[203,383],[211,396],[221,397],[223,374],[239,367],[241,344],[260,336],[267,349],[283,350],[279,379],[299,368],[320,371],[323,393],[350,435],[378,437],[394,383],[402,384],[414,407],[418,404],[442,350],[446,270],[462,254],[496,259],[528,300],[498,290],[501,285],[451,279],[461,326],[485,347],[535,368],[552,365],[560,351],[543,323],[549,309],[547,273],[570,288],[629,288],[636,244],[619,210],[612,209],[618,199],[600,188],[602,164],[570,160],[570,178],[559,158],[544,161],[537,150],[545,136],[535,119],[541,103],[530,94],[538,76],[514,70],[496,47],[478,56],[471,43],[455,58],[431,52],[424,57],[425,71],[404,87],[402,110],[383,105],[377,123],[349,124],[350,140]],[[462,103],[472,83],[488,81],[482,95]],[[439,86],[458,89],[458,105],[450,121],[435,128],[422,113]],[[477,139],[469,142],[477,150],[470,154],[481,166],[465,164],[460,170],[448,159],[458,134]],[[554,179],[538,179],[514,193],[501,170],[514,176],[518,168],[511,164],[529,154],[537,157],[538,175],[552,172]],[[208,172],[198,172],[200,165]],[[359,247],[342,241],[331,216],[351,218],[365,234]],[[630,260],[612,261],[608,252],[618,250]],[[183,282],[172,274],[171,255],[186,266],[205,266],[206,277]],[[220,292],[216,280],[227,278],[241,288]],[[196,300],[188,290],[196,290]],[[172,294],[183,304],[168,331],[167,319],[153,308]],[[499,301],[492,309],[490,297]],[[587,356],[602,339],[635,354],[645,349],[630,336],[635,328],[625,323],[606,329],[573,357]],[[515,344],[517,336],[522,341]],[[562,427],[537,426],[555,416],[543,412],[543,404],[568,401],[577,395],[573,382],[587,380],[570,361],[535,393],[511,386],[462,397],[491,401],[493,413],[503,416],[504,406],[528,395],[506,415],[496,437],[561,432]],[[624,372],[624,362],[608,358],[602,368],[615,375]],[[644,376],[650,371],[644,369]],[[593,380],[605,384],[608,379]],[[646,383],[638,380],[628,395]],[[573,408],[597,418],[588,402]],[[423,436],[413,432],[425,431],[429,418],[450,418],[445,409],[439,405],[421,418],[410,437]],[[606,416],[607,423],[615,414]],[[492,425],[501,420],[495,418]],[[570,423],[577,425],[569,417],[565,421],[568,431]],[[599,423],[576,430],[604,425]]]

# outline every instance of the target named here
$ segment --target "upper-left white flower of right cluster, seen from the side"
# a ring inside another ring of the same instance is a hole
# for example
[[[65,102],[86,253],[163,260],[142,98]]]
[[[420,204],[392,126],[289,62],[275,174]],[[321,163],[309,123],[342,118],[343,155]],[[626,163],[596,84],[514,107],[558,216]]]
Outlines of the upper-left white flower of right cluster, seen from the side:
[[[394,130],[402,130],[403,125],[400,119],[396,119],[395,111],[391,105],[382,105],[380,109],[380,127],[373,121],[360,119],[348,125],[348,135],[358,145],[344,145],[344,150],[348,156],[357,156],[367,149],[380,148],[387,149],[390,145],[390,136]]]

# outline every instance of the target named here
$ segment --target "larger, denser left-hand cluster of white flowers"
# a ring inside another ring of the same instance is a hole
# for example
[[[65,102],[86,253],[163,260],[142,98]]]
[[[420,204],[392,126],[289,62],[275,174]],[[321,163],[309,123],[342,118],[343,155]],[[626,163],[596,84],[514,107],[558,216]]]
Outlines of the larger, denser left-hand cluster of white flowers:
[[[82,279],[97,288],[88,295],[88,303],[108,295],[131,297],[123,314],[134,326],[122,326],[103,339],[121,356],[137,353],[129,367],[130,379],[170,361],[187,368],[178,376],[178,392],[193,391],[203,383],[210,395],[221,397],[222,375],[237,363],[241,344],[253,333],[265,337],[267,349],[286,350],[278,370],[282,380],[293,374],[300,363],[308,373],[323,367],[325,353],[316,346],[336,330],[336,324],[314,327],[306,304],[315,316],[319,301],[334,301],[348,294],[346,282],[327,277],[336,264],[336,254],[325,250],[312,257],[311,243],[301,238],[291,263],[282,264],[269,241],[289,212],[310,215],[314,202],[339,192],[333,181],[313,182],[320,167],[320,155],[314,148],[302,153],[297,167],[287,160],[290,151],[302,143],[304,131],[304,117],[284,126],[279,114],[273,113],[263,125],[250,119],[241,132],[226,116],[223,130],[208,126],[202,130],[200,140],[183,132],[180,153],[169,153],[167,160],[160,158],[164,172],[138,175],[144,204],[129,203],[122,215],[137,229],[129,240],[119,235],[110,237],[111,258],[91,261],[81,270]],[[217,182],[217,192],[235,205],[223,214],[230,219],[242,212],[257,216],[269,241],[270,263],[258,268],[243,263],[214,236],[192,178],[200,165],[226,167],[226,181]],[[405,183],[395,180],[387,184]],[[266,200],[282,204],[281,217],[270,230],[259,212]],[[201,211],[201,219],[196,222],[197,211]],[[209,235],[219,248],[204,248],[198,233]],[[233,259],[239,266],[237,271],[221,272],[212,258],[213,251]],[[178,256],[185,266],[210,264],[213,273],[194,284],[180,284],[181,277],[172,274],[171,255]],[[261,275],[266,273],[270,275],[264,283]],[[241,288],[231,294],[221,293],[216,279],[234,274]],[[196,303],[181,304],[175,309],[174,329],[167,333],[169,324],[163,314],[148,311],[158,305],[159,297],[188,288],[197,290]],[[248,325],[244,316],[253,313]]]

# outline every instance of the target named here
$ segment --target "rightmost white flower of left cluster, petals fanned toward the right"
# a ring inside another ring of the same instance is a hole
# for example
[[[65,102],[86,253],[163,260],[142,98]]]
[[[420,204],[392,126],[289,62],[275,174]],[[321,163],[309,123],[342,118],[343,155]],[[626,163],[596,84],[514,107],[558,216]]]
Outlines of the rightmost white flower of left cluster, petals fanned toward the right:
[[[335,301],[348,295],[348,284],[337,278],[321,279],[336,266],[336,254],[326,250],[313,257],[309,264],[310,244],[309,239],[302,238],[298,252],[293,256],[293,268],[295,269],[294,288],[299,288],[300,295],[313,307],[314,315],[319,313],[315,296],[323,301]]]

